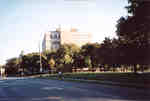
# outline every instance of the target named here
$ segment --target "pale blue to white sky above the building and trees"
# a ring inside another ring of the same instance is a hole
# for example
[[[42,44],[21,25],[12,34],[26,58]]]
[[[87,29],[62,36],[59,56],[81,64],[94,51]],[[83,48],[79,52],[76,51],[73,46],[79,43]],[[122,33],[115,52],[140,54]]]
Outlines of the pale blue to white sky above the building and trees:
[[[91,32],[92,42],[115,37],[127,0],[0,0],[0,64],[39,51],[44,32],[61,25]]]

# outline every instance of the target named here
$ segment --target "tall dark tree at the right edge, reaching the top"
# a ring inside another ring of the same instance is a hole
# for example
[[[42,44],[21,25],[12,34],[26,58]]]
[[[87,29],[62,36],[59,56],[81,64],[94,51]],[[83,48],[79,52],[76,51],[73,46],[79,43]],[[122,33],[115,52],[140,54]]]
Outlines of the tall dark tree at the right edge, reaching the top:
[[[122,42],[119,49],[124,54],[127,64],[141,66],[149,63],[150,48],[150,2],[145,0],[129,0],[127,7],[131,16],[121,17],[117,24],[117,35]],[[142,53],[142,54],[141,54]],[[130,61],[129,61],[130,60]]]

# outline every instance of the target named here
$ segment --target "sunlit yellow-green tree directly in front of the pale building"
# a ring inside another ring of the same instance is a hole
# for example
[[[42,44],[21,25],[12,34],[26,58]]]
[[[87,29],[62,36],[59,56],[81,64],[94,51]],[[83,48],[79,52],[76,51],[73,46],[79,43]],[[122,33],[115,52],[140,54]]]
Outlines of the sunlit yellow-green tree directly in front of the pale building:
[[[79,48],[74,44],[64,44],[57,50],[57,65],[59,70],[64,72],[72,72],[75,54],[79,52]]]

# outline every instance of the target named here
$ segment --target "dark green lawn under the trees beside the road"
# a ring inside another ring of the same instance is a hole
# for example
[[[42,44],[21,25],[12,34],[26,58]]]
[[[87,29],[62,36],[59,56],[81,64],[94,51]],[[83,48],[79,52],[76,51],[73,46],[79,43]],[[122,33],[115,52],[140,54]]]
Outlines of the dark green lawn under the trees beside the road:
[[[48,78],[57,78],[57,74],[46,75]],[[133,83],[133,84],[150,84],[150,73],[134,74],[118,73],[118,72],[103,72],[103,73],[64,73],[64,79],[75,80],[96,80],[96,81],[109,81],[118,83]]]

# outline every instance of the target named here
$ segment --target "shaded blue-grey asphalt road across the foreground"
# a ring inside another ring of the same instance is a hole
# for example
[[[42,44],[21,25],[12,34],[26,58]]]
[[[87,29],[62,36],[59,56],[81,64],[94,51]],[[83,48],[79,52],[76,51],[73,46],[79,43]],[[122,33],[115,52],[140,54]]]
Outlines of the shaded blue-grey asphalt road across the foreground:
[[[36,78],[0,79],[0,101],[150,101],[149,89]]]

